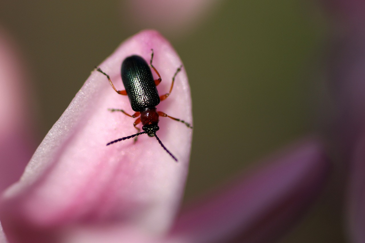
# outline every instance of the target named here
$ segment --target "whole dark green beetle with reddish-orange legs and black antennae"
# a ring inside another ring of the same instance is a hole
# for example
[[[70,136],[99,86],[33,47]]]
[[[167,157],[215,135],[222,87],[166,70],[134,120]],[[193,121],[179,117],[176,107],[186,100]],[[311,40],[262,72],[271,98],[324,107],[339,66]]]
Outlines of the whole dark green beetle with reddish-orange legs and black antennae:
[[[161,147],[177,162],[177,158],[164,146],[161,140],[156,135],[156,131],[160,129],[158,127],[158,121],[160,120],[160,116],[169,117],[173,120],[180,121],[184,123],[188,128],[193,128],[190,123],[187,123],[184,120],[172,117],[167,115],[162,111],[157,111],[156,106],[160,104],[160,101],[165,100],[172,92],[172,88],[174,86],[175,78],[178,72],[181,71],[182,65],[178,67],[174,76],[172,77],[172,83],[170,86],[170,90],[165,95],[158,95],[157,85],[159,85],[162,81],[160,73],[158,73],[157,69],[152,65],[154,50],[151,49],[151,60],[150,65],[147,64],[145,59],[138,55],[132,55],[124,59],[121,67],[121,76],[124,84],[125,90],[117,90],[110,79],[110,76],[103,72],[100,67],[95,67],[96,70],[102,74],[104,74],[109,81],[109,84],[112,88],[120,95],[127,95],[129,101],[131,103],[132,110],[135,111],[133,115],[128,114],[123,109],[109,109],[111,112],[119,111],[124,113],[127,116],[132,118],[138,117],[133,126],[137,129],[138,133],[126,136],[123,138],[119,138],[107,143],[107,146],[116,142],[120,142],[122,140],[135,138],[135,142],[137,141],[137,136],[141,134],[147,134],[150,137],[155,137],[157,141],[160,143]],[[152,72],[150,67],[157,74],[158,79],[154,80],[152,76]],[[137,127],[139,123],[142,123],[142,130]]]

